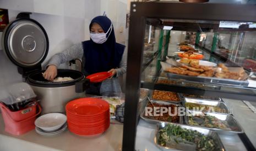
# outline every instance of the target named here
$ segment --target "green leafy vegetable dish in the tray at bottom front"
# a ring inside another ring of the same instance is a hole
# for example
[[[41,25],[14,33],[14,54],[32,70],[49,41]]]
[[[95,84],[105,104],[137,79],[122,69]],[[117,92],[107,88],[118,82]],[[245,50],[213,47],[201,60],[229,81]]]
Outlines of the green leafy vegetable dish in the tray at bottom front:
[[[195,150],[221,150],[210,136],[172,124],[167,124],[166,127],[159,130],[157,143],[164,147],[177,146],[179,144],[186,146],[187,144],[194,145]],[[190,147],[190,149],[192,148]]]

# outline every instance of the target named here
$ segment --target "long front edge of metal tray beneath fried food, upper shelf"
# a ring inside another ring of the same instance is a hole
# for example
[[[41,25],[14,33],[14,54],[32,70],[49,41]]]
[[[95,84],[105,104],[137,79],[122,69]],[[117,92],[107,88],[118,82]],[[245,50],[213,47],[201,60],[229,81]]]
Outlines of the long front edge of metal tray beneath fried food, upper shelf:
[[[232,80],[232,79],[220,79],[214,77],[193,77],[190,75],[181,75],[175,73],[167,73],[168,78],[173,79],[184,79],[189,82],[200,82],[200,83],[211,83],[211,84],[226,84],[226,85],[239,85],[248,86],[249,82],[247,80]]]

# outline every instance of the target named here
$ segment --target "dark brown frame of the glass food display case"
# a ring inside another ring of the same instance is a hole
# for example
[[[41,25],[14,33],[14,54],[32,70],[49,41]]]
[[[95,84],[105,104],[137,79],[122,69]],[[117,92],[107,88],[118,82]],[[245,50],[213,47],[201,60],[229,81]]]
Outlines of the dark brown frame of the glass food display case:
[[[126,104],[123,127],[123,150],[135,149],[136,130],[139,119],[137,112],[139,89],[149,88],[175,92],[189,91],[191,94],[203,94],[206,90],[184,88],[176,85],[141,83],[143,69],[143,47],[146,19],[187,19],[214,21],[246,21],[256,22],[256,5],[238,4],[184,4],[184,3],[140,3],[130,5],[130,26],[128,40],[128,60],[126,79]],[[161,22],[159,22],[161,24]],[[241,88],[243,89],[243,88]],[[220,90],[209,90],[209,95],[256,101],[255,95],[226,93]],[[255,149],[246,135],[242,135],[244,146],[248,150]],[[240,137],[240,138],[241,138]]]

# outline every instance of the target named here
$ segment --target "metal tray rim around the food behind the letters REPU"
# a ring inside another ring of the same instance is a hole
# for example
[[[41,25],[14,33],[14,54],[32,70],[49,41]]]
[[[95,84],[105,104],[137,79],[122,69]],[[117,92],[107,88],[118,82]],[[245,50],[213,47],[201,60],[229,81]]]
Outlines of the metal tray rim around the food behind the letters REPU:
[[[165,101],[152,101],[152,102],[157,103],[157,104],[172,104],[172,105],[175,105],[176,107],[180,107],[178,104],[171,103],[171,102],[165,102]],[[148,104],[148,103],[149,103],[149,101],[146,104]],[[168,121],[161,121],[161,120],[146,118],[146,116],[145,116],[145,107],[143,109],[143,112],[140,113],[140,118],[145,120],[146,122],[151,123],[151,124],[157,124],[159,122],[172,123],[172,122],[168,122]],[[183,117],[179,116],[179,123],[173,123],[173,124],[183,124]]]

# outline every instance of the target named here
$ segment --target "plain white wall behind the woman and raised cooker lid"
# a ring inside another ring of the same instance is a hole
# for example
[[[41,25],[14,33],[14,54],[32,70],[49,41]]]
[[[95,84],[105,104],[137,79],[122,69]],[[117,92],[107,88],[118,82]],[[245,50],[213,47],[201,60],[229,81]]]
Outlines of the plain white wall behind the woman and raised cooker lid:
[[[88,40],[91,19],[97,15],[102,15],[104,11],[113,21],[117,42],[123,43],[126,4],[125,0],[0,0],[0,8],[9,10],[10,21],[14,20],[18,13],[30,11],[32,12],[31,18],[38,21],[45,28],[50,48],[43,65],[52,55],[69,48],[75,43]],[[121,26],[124,26],[123,32],[119,32]],[[1,35],[0,32],[0,39],[2,38]],[[6,58],[1,47],[0,71],[0,88],[10,83],[10,81],[21,81],[21,75],[18,74],[17,67]],[[4,78],[7,78],[7,80],[3,80]]]

